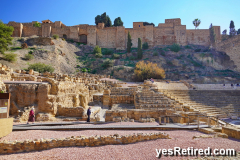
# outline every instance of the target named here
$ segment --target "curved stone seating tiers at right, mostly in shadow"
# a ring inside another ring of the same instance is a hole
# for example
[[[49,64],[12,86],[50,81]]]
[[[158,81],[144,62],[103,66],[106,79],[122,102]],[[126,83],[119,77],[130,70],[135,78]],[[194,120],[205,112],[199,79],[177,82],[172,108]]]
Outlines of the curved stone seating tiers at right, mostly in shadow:
[[[163,93],[210,116],[226,117],[240,113],[238,90],[165,90]]]

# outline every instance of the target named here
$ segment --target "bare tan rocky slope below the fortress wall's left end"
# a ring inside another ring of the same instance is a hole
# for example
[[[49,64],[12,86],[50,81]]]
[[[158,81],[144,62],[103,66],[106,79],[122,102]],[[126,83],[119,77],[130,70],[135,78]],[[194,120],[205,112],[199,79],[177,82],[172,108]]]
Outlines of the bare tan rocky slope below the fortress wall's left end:
[[[10,63],[4,60],[3,55],[1,55],[0,63],[13,69],[25,69],[28,68],[29,64],[41,62],[53,66],[55,68],[54,72],[57,73],[76,73],[76,66],[81,65],[75,54],[80,51],[76,43],[68,43],[62,39],[53,39],[54,45],[39,45],[28,43],[30,38],[14,38],[13,45],[9,46],[10,50],[6,53],[17,54],[17,61]],[[23,42],[28,44],[27,49],[21,49]],[[25,55],[31,52],[34,55],[34,59],[25,60]]]

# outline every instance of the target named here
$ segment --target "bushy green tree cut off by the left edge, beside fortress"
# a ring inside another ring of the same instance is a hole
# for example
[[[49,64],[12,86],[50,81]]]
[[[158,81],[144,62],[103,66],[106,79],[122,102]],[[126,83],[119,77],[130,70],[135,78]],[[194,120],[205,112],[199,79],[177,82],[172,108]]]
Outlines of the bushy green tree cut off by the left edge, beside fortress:
[[[12,44],[13,30],[12,26],[7,26],[0,21],[0,53],[4,54],[8,50],[8,45]]]

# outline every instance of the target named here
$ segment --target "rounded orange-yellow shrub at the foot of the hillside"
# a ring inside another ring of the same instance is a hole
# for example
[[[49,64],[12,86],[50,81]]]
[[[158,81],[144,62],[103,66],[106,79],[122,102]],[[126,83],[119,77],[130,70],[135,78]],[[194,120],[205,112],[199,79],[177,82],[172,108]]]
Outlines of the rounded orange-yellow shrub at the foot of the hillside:
[[[136,64],[134,77],[136,81],[144,81],[149,78],[164,79],[165,71],[156,63],[140,61]]]

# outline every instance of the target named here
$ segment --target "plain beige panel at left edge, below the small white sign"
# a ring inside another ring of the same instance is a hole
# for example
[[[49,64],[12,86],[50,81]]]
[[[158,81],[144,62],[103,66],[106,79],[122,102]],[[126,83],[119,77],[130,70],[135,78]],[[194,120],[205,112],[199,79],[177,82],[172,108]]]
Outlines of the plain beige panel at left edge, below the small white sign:
[[[12,126],[13,126],[13,118],[1,118],[0,119],[0,138],[11,133]]]

